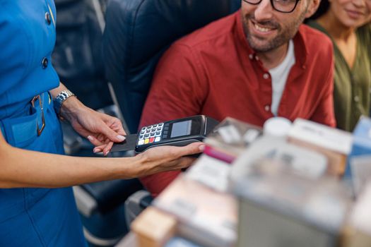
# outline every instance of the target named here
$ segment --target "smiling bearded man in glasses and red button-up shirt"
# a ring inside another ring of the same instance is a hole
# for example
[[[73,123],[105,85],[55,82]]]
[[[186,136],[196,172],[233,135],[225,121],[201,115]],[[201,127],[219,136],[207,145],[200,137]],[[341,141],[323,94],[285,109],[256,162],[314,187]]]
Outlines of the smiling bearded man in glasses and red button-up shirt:
[[[335,126],[328,37],[302,21],[319,0],[243,0],[240,11],[178,40],[153,77],[141,126],[205,114],[262,126],[272,116]],[[179,174],[141,181],[158,195]]]

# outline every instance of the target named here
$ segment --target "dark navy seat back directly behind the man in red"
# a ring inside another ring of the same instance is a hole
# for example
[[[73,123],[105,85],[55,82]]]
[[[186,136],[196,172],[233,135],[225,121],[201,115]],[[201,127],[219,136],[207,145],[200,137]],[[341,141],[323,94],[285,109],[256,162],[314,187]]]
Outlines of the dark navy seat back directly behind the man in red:
[[[103,37],[105,72],[131,132],[136,132],[153,71],[165,49],[240,4],[240,0],[109,2]]]

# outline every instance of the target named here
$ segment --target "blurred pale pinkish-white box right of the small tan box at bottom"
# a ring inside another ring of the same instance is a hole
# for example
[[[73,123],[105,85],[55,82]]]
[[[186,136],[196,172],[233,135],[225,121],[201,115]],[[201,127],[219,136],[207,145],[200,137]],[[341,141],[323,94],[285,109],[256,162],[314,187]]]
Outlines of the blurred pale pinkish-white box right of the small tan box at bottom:
[[[233,195],[180,175],[153,205],[177,217],[179,236],[201,246],[228,247],[237,239],[237,200]]]

